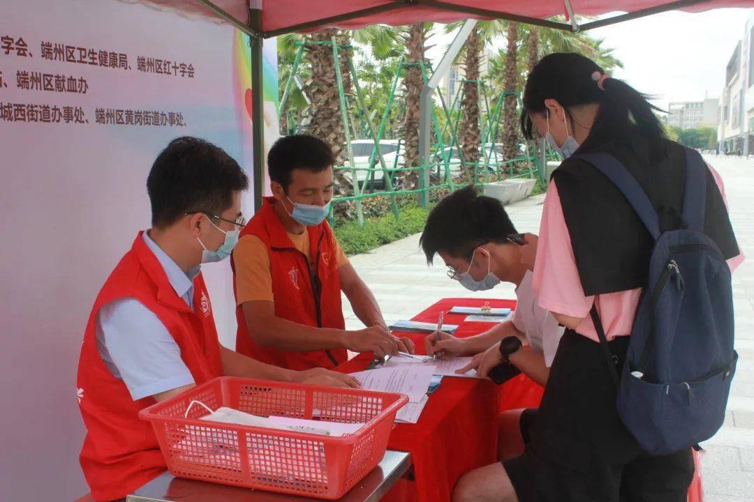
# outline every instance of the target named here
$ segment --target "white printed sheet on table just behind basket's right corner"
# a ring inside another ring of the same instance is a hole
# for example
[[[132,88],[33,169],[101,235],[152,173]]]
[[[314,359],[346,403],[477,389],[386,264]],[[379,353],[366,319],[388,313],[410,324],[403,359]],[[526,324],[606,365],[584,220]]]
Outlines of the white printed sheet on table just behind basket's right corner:
[[[427,395],[433,375],[434,365],[424,363],[401,364],[351,373],[351,376],[361,383],[361,388],[368,391],[406,394],[411,403],[418,403]]]

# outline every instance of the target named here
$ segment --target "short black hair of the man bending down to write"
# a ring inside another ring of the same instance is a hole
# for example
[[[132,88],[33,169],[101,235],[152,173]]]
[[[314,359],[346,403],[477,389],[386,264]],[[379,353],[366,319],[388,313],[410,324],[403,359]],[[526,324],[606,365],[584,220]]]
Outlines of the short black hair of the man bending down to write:
[[[469,260],[474,248],[486,242],[507,242],[516,233],[498,199],[466,187],[446,196],[430,211],[419,244],[427,263],[440,251]]]

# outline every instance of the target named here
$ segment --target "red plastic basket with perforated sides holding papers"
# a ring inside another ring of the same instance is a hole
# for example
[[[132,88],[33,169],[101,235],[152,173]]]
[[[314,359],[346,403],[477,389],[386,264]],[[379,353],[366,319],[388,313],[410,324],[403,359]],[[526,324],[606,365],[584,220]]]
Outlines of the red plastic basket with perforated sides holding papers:
[[[202,406],[345,423],[366,422],[356,434],[329,437],[199,420]],[[221,377],[149,406],[167,468],[176,477],[337,499],[374,469],[388,447],[403,394]]]

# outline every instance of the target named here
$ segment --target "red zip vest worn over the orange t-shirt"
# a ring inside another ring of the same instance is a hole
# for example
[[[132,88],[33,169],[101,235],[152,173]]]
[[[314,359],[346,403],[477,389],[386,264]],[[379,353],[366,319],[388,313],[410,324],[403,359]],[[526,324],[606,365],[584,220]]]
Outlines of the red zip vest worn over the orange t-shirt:
[[[247,234],[257,236],[267,247],[275,315],[307,326],[345,329],[333,230],[327,221],[315,227],[308,227],[309,253],[314,257],[314,260],[310,261],[309,257],[296,249],[291,242],[274,211],[274,204],[274,198],[265,197],[262,208],[254,214],[244,230],[241,230],[240,237]],[[231,266],[235,274],[232,255]],[[235,292],[235,281],[233,289]],[[236,351],[257,361],[290,370],[334,368],[348,361],[348,351],[345,348],[295,352],[260,347],[247,330],[244,309],[241,306],[236,309],[236,318]]]

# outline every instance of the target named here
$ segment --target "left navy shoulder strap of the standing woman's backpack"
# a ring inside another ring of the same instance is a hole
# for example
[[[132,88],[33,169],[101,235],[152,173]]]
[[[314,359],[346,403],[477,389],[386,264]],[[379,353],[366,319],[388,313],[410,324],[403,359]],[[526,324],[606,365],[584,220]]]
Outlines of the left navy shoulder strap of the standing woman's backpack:
[[[611,154],[604,153],[576,154],[570,158],[584,160],[607,176],[618,187],[618,190],[621,190],[633,210],[639,215],[639,219],[644,223],[652,239],[660,238],[660,219],[657,218],[657,211],[649,202],[649,198],[639,182],[618,159]]]

